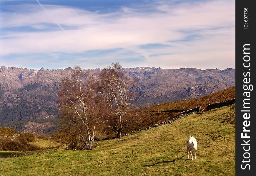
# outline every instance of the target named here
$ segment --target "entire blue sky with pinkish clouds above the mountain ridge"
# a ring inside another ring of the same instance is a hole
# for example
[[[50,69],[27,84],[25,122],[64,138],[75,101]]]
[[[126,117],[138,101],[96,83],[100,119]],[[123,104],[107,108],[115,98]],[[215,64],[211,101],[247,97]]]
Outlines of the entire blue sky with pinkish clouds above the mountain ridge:
[[[235,1],[0,0],[0,66],[235,68]]]

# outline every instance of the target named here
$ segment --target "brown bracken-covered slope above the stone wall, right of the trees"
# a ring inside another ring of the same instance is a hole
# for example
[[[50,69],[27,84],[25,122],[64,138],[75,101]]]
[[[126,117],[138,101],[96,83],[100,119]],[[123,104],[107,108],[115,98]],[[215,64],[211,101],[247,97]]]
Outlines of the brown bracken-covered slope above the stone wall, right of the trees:
[[[205,111],[208,104],[227,101],[235,98],[235,86],[215,92],[204,97],[186,99],[180,101],[167,102],[141,109],[143,116],[136,125],[131,126],[130,130],[138,130],[156,123],[169,120],[179,115],[182,111],[201,106]]]

